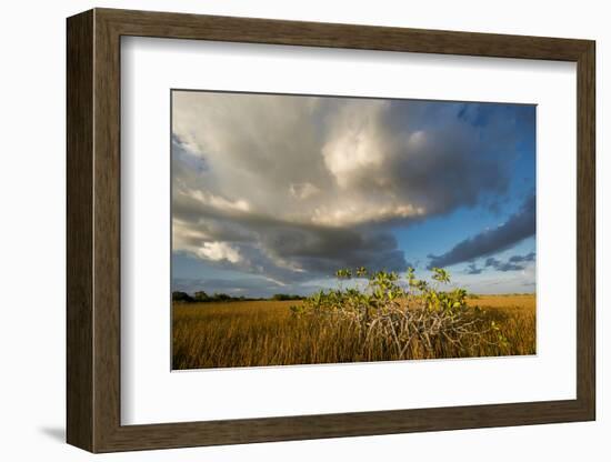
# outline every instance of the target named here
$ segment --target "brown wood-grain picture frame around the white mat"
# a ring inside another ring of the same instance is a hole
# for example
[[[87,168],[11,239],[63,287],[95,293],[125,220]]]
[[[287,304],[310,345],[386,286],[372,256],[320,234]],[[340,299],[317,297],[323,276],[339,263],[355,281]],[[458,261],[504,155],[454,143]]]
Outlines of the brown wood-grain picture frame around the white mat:
[[[593,41],[110,9],[71,17],[67,27],[67,440],[70,444],[91,452],[111,452],[594,420]],[[121,425],[122,36],[577,62],[577,399]]]

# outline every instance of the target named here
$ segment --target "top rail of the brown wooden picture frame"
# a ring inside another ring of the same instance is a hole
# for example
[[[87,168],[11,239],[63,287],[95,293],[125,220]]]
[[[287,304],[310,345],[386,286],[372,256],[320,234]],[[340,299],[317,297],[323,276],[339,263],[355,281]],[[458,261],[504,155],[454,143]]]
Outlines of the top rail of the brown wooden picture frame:
[[[97,9],[123,36],[574,61],[585,40]]]

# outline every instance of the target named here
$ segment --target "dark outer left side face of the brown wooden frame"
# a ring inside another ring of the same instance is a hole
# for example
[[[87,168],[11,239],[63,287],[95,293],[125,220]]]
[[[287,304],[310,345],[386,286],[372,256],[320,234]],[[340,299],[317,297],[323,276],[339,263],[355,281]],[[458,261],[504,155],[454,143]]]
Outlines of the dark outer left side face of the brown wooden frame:
[[[68,21],[67,49],[67,431],[93,449],[93,13]]]

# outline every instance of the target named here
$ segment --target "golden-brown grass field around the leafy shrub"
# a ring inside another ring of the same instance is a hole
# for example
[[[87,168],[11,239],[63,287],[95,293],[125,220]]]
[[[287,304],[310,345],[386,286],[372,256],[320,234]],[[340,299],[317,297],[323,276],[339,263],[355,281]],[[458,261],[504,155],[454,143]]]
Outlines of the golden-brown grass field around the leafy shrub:
[[[291,314],[294,301],[174,303],[173,369],[320,364],[398,359],[464,358],[535,353],[535,297],[480,295],[469,305],[485,325],[484,342],[468,349],[437,340],[434,354],[415,344],[407,358],[395,358],[380,343],[363,351],[350,327],[317,322]],[[502,334],[507,343],[495,342]]]

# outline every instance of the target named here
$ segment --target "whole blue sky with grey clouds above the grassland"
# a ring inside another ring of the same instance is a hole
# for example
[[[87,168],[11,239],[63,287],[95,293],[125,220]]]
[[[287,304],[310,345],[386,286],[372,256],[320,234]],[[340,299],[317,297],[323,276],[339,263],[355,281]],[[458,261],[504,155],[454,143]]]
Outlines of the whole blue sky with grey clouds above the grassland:
[[[172,91],[172,290],[535,291],[535,106]]]

